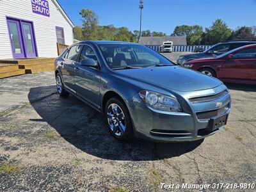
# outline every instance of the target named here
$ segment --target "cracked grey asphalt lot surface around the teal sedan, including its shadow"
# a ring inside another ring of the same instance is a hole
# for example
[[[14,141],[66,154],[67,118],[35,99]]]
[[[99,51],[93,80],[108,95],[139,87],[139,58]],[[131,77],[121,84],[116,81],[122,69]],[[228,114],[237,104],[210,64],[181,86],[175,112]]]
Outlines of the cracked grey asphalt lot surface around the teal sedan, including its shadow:
[[[203,142],[120,143],[100,113],[56,94],[52,71],[0,79],[0,164],[17,167],[0,172],[0,191],[162,191],[160,182],[255,183],[256,88],[227,86],[228,124]]]

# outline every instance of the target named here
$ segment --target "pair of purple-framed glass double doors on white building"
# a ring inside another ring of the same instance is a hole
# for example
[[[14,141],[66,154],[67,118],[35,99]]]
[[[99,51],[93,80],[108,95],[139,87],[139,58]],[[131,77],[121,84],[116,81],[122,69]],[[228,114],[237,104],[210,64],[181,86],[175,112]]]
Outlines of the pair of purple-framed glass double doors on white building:
[[[13,58],[36,57],[33,24],[19,19],[7,19]]]

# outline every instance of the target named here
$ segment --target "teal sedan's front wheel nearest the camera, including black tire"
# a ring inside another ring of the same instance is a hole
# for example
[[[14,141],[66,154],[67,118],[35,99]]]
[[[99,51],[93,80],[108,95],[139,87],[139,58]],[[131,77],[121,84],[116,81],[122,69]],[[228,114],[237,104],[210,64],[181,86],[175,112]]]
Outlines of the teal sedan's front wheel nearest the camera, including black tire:
[[[104,117],[114,138],[120,141],[129,141],[133,138],[131,116],[121,99],[113,97],[108,100]]]

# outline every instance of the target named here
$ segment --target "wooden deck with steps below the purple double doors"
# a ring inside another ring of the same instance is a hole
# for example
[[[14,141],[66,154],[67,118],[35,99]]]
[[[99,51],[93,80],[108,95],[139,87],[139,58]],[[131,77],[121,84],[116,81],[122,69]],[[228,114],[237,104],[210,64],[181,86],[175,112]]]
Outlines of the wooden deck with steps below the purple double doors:
[[[54,70],[54,58],[0,60],[0,79]]]

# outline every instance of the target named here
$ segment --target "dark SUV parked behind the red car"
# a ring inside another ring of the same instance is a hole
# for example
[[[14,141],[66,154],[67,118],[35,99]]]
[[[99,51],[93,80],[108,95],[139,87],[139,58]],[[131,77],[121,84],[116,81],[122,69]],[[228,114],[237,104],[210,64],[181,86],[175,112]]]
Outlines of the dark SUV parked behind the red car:
[[[213,45],[204,52],[182,55],[177,60],[177,64],[183,66],[184,63],[186,63],[187,61],[197,60],[201,58],[214,58],[214,56],[219,56],[220,54],[236,49],[237,47],[242,47],[249,44],[256,44],[256,41],[221,42],[219,44]]]

